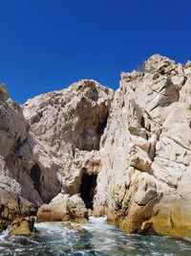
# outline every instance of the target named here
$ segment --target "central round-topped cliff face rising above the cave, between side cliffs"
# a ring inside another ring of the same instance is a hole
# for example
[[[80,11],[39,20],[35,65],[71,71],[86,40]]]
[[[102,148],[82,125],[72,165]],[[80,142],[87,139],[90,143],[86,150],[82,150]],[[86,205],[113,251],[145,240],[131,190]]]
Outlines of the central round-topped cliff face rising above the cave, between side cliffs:
[[[96,81],[79,81],[67,89],[40,95],[23,106],[32,136],[47,152],[39,162],[51,158],[56,163],[54,173],[63,193],[77,194],[82,175],[98,171],[96,152],[113,94],[111,89]],[[41,177],[44,198],[50,191],[50,183],[55,184],[50,178],[52,176],[47,174]],[[49,184],[46,189],[44,183]]]

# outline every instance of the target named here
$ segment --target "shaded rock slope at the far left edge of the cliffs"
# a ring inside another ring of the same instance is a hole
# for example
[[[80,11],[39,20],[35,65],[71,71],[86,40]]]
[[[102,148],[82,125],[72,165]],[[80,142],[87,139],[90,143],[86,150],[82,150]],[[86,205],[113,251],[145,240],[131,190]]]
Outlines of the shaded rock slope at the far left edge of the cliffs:
[[[32,138],[21,107],[0,86],[0,219],[35,212],[32,204],[41,198],[33,190],[29,170],[35,163]]]

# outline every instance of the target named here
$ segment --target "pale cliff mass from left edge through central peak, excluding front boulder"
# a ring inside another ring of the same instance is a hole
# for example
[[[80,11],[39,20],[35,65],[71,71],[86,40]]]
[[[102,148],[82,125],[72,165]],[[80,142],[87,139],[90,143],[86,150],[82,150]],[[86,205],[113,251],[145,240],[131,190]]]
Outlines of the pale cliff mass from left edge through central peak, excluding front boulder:
[[[79,81],[22,109],[0,86],[1,219],[33,215],[61,191],[79,193],[82,175],[98,171],[113,94],[96,81]]]

